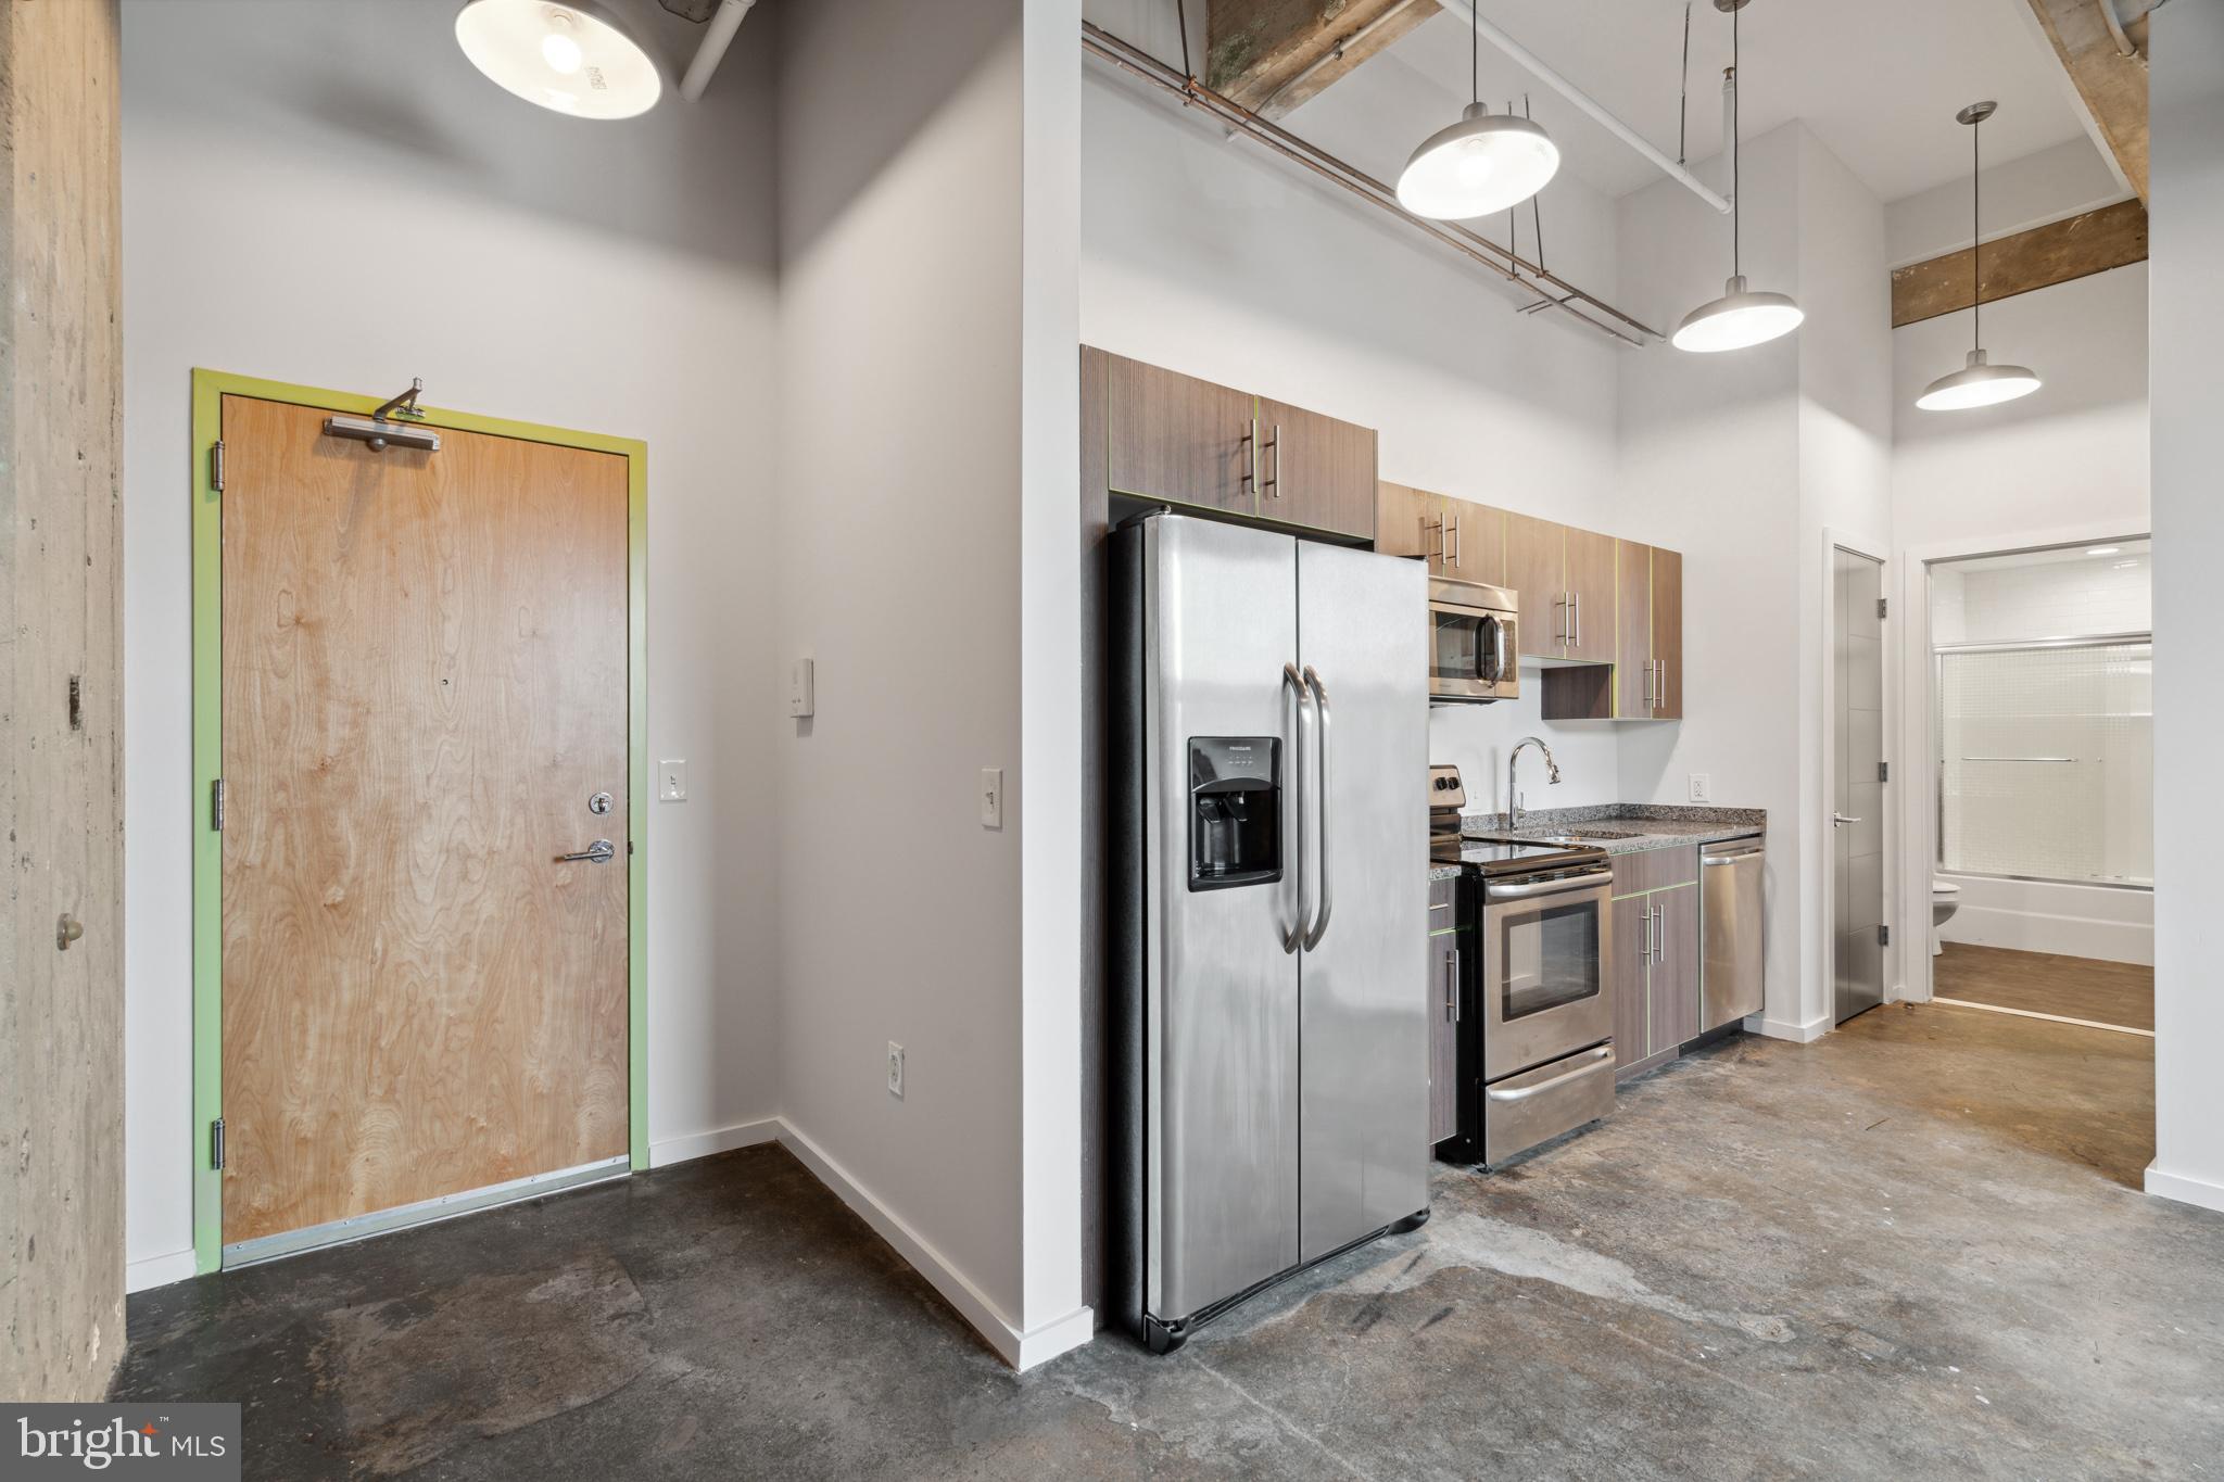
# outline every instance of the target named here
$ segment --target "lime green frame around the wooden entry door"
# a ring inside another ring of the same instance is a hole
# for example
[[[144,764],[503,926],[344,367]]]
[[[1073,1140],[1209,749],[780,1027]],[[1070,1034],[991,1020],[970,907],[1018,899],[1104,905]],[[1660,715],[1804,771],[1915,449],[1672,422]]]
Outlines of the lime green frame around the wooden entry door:
[[[320,411],[369,415],[380,398],[318,387],[294,387],[254,375],[193,371],[193,1266],[222,1264],[225,1180],[216,1169],[209,1126],[225,1115],[225,851],[211,827],[209,800],[225,764],[225,515],[216,487],[216,444],[222,438],[222,398],[251,395]],[[507,422],[469,411],[425,409],[427,427],[460,433],[520,438],[625,458],[625,651],[627,651],[627,1142],[638,1173],[649,1166],[649,444],[636,438]]]

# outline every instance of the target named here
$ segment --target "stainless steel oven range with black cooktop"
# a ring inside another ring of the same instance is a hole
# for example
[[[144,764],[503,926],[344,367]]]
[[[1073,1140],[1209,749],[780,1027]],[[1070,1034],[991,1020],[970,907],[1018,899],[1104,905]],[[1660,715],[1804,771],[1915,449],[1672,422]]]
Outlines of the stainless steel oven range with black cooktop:
[[[1606,851],[1468,842],[1481,958],[1461,984],[1461,1158],[1497,1166],[1615,1109]]]

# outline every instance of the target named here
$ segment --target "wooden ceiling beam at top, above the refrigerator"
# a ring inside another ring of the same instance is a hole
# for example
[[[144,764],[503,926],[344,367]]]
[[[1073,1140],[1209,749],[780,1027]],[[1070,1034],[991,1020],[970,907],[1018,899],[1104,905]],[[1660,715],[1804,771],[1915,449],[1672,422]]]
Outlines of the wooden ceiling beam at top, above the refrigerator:
[[[1437,0],[1210,0],[1205,76],[1261,118],[1283,118],[1437,13]]]

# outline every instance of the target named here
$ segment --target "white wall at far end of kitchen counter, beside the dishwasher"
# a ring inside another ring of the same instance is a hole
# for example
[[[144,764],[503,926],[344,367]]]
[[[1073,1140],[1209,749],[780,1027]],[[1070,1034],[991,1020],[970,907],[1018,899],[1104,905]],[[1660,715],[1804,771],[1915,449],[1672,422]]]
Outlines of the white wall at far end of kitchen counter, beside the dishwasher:
[[[1824,529],[1882,540],[1890,524],[1884,209],[1799,122],[1746,140],[1741,176],[1744,271],[1808,318],[1730,356],[1621,362],[1621,529],[1684,551],[1686,673],[1686,720],[1624,735],[1621,793],[1684,802],[1690,773],[1708,773],[1717,802],[1768,809],[1759,1027],[1813,1038],[1828,1027],[1828,833],[1810,827]],[[1655,324],[1717,298],[1730,271],[1730,224],[1672,182],[1621,200],[1619,240],[1628,309]]]

